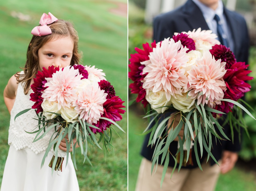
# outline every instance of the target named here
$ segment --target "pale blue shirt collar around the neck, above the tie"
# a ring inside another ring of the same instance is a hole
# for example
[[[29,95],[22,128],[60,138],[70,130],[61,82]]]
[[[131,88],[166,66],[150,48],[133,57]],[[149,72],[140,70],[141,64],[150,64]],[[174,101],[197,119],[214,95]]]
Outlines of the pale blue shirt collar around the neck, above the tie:
[[[216,10],[213,10],[207,7],[205,4],[201,3],[199,0],[192,0],[202,11],[203,17],[205,18],[206,22],[211,22],[215,14],[220,17],[220,20],[223,18],[223,3],[221,0],[218,1],[218,7]]]

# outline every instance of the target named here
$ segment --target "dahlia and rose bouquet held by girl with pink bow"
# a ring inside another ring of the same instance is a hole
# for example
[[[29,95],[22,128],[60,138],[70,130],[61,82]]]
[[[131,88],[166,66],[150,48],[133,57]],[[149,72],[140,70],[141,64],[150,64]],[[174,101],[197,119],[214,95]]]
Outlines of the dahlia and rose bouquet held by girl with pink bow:
[[[112,146],[112,127],[120,121],[124,114],[123,101],[115,95],[112,85],[105,79],[105,74],[95,66],[73,65],[65,68],[51,66],[43,71],[38,71],[31,85],[33,93],[30,100],[34,105],[38,120],[38,129],[34,141],[42,139],[47,133],[53,132],[43,157],[51,148],[54,148],[54,156],[49,166],[53,170],[62,171],[62,163],[65,155],[72,148],[73,162],[75,163],[75,146],[78,144],[84,160],[87,157],[88,144],[97,146],[103,142],[104,154],[108,152],[108,146]],[[20,116],[30,109],[19,112]],[[113,129],[114,130],[114,129]],[[115,130],[114,130],[115,131]],[[99,133],[97,138],[95,134]],[[76,138],[76,142],[73,139]],[[67,152],[59,149],[62,139],[67,144]],[[69,141],[68,141],[69,140]],[[57,156],[57,157],[55,157]],[[77,169],[77,168],[76,168]]]

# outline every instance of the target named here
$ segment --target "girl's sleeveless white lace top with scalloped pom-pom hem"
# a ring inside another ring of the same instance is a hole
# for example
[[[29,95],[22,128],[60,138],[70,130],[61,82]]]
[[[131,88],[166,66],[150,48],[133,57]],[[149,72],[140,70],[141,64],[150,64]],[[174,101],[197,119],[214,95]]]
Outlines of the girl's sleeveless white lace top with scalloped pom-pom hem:
[[[21,74],[22,73],[23,71]],[[34,104],[34,102],[30,100],[30,93],[32,92],[32,89],[29,89],[28,94],[25,95],[22,83],[18,84],[16,99],[11,110],[8,144],[12,144],[16,150],[28,147],[37,154],[44,151],[48,147],[49,140],[54,132],[54,129],[47,133],[42,139],[33,142],[36,133],[29,134],[25,131],[33,132],[38,129],[38,121],[33,119],[37,118],[35,110],[29,110],[25,114],[17,117],[14,121],[16,114],[22,110],[31,108]],[[53,148],[51,151],[53,151]]]

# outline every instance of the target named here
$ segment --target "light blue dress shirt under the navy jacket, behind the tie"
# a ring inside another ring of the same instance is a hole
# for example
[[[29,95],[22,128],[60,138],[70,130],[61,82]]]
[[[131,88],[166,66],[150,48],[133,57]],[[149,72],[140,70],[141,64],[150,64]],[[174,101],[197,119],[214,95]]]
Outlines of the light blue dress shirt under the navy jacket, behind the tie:
[[[215,16],[215,14],[217,14],[219,16],[223,31],[224,31],[224,33],[227,37],[227,41],[228,41],[230,50],[234,51],[234,41],[232,39],[231,30],[228,27],[226,17],[223,14],[223,3],[222,3],[222,1],[221,0],[218,1],[218,7],[216,8],[216,10],[213,10],[210,7],[207,7],[205,4],[201,3],[199,0],[192,0],[192,1],[202,11],[203,17],[205,18],[205,21],[206,21],[208,27],[215,34],[218,34],[218,32],[217,32],[217,22],[213,18]]]

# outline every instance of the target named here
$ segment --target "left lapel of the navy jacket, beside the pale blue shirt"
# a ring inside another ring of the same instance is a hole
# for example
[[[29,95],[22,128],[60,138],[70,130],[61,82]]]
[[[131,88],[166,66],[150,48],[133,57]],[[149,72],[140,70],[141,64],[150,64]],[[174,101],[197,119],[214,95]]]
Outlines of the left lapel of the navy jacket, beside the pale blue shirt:
[[[202,30],[209,30],[209,27],[203,17],[201,10],[192,0],[188,0],[184,5],[184,14],[187,15],[185,21],[191,27],[191,30],[201,27]]]

